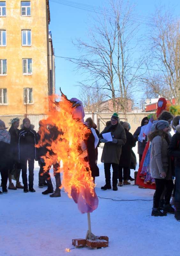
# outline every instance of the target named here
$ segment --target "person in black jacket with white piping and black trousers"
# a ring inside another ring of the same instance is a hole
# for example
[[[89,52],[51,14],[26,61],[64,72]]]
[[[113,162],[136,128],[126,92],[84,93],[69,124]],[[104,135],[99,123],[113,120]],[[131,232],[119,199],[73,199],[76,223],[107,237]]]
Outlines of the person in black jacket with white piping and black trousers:
[[[27,162],[29,167],[29,191],[35,192],[33,188],[34,181],[34,159],[36,159],[37,134],[33,130],[30,120],[23,119],[22,129],[19,131],[19,162],[22,168],[22,180],[24,192],[28,192],[27,185]]]

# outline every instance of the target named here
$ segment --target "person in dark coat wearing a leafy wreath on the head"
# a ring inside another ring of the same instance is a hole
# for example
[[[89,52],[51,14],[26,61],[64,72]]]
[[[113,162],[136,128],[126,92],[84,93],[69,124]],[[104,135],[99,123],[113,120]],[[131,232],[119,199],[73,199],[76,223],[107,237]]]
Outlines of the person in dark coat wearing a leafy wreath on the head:
[[[9,187],[8,189],[17,189],[17,188],[24,188],[21,183],[19,182],[20,178],[20,172],[21,172],[21,166],[19,164],[18,159],[18,142],[19,142],[19,118],[13,118],[9,124],[11,124],[11,127],[9,129],[9,133],[11,135],[11,169],[10,173],[8,175],[9,178]],[[16,187],[14,187],[14,184],[12,183],[12,174],[14,175],[14,179],[16,180]]]

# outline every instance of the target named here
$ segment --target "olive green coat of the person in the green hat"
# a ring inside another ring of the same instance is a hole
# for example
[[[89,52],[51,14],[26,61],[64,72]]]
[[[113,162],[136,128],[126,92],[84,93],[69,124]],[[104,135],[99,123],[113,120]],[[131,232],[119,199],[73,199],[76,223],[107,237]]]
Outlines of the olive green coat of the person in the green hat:
[[[108,132],[111,124],[106,126],[104,130],[100,133],[99,137],[102,138],[102,134]],[[111,132],[112,137],[117,139],[117,143],[107,142],[104,143],[104,148],[102,151],[101,162],[102,163],[114,163],[119,164],[119,159],[121,156],[122,146],[126,143],[126,134],[124,128],[121,124],[116,126],[114,132]]]

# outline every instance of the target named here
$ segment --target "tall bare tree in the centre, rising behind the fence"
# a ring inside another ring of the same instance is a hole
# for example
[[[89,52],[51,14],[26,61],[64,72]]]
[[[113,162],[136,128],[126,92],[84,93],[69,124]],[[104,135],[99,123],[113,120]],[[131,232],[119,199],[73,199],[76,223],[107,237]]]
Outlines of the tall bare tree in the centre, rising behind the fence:
[[[94,88],[96,82],[113,102],[113,110],[119,106],[127,111],[128,98],[141,74],[142,61],[132,61],[136,46],[132,47],[138,26],[132,19],[133,6],[123,0],[109,0],[109,9],[94,18],[94,26],[89,29],[90,43],[77,40],[77,47],[83,55],[75,62],[87,79],[80,83],[86,88]],[[134,45],[134,44],[133,44]],[[119,102],[116,104],[116,98]]]

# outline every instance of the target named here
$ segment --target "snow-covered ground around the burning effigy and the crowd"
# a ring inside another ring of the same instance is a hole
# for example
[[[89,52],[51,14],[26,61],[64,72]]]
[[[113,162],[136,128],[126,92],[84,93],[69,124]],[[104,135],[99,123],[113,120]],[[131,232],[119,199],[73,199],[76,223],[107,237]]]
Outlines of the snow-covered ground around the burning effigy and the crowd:
[[[136,152],[137,148],[134,149]],[[100,177],[96,193],[116,200],[152,199],[154,190],[131,185],[118,191],[101,191],[104,170],[99,149]],[[36,193],[8,190],[0,196],[0,256],[179,256],[180,222],[173,215],[152,217],[152,201],[112,201],[99,198],[91,214],[92,232],[109,236],[109,247],[74,249],[73,238],[85,238],[87,215],[81,214],[67,194],[50,198],[38,188],[38,165],[34,171]],[[137,166],[138,169],[138,166]],[[133,177],[133,171],[131,176]],[[52,180],[55,182],[54,178]],[[72,248],[65,252],[66,248]]]

